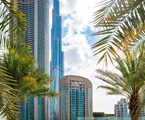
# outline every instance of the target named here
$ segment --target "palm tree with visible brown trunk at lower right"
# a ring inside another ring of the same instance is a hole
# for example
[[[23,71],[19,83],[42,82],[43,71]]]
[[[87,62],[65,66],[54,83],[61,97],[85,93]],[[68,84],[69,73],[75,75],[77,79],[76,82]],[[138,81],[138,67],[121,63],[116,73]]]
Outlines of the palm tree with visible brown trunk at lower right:
[[[116,59],[116,67],[121,74],[97,70],[97,78],[107,83],[99,88],[106,89],[109,95],[123,95],[128,99],[131,120],[138,120],[145,104],[145,57]]]

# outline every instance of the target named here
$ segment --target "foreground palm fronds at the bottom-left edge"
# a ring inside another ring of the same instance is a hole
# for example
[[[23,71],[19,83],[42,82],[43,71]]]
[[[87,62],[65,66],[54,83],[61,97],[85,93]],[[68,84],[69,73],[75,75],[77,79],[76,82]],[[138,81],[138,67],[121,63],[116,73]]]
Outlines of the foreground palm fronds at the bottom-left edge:
[[[0,116],[7,120],[18,117],[18,97],[14,94],[16,90],[12,87],[16,81],[6,68],[0,65]]]

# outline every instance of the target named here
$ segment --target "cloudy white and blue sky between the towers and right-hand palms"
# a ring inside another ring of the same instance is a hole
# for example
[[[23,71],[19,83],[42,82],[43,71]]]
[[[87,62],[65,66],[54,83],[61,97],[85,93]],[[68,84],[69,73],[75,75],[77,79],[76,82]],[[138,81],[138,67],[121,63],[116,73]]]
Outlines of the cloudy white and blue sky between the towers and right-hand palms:
[[[92,55],[91,49],[91,45],[99,39],[92,36],[96,4],[97,0],[60,0],[65,75],[80,75],[90,79],[93,84],[93,111],[114,113],[114,104],[121,97],[107,96],[106,91],[97,89],[103,83],[95,78],[95,70],[104,68],[103,63],[96,64],[97,57]],[[112,66],[110,68],[115,71]]]

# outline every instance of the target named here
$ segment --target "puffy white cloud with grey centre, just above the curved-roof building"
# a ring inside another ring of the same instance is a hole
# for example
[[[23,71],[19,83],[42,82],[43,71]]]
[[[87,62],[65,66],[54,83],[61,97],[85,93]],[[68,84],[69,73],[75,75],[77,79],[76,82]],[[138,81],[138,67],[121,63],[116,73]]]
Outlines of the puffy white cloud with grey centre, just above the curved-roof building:
[[[63,38],[63,43],[66,45],[63,46],[63,51],[67,69],[68,67],[73,69],[76,66],[80,66],[91,55],[91,48],[84,34],[68,33]]]

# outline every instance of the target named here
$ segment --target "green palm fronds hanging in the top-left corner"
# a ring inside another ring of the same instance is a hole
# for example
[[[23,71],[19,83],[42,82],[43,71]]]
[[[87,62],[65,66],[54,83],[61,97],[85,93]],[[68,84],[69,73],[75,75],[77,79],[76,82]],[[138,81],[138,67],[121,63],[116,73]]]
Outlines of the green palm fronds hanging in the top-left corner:
[[[0,43],[21,37],[25,32],[25,15],[17,7],[17,0],[0,1]]]

